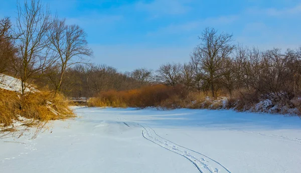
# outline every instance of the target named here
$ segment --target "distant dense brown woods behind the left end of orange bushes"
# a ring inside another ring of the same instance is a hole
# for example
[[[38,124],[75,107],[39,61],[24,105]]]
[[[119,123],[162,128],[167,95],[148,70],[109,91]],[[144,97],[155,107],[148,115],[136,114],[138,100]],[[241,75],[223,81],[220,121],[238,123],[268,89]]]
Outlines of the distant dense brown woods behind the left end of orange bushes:
[[[44,79],[41,85],[45,85]],[[50,85],[50,89],[55,86]],[[78,64],[68,68],[64,75],[61,92],[71,97],[92,97],[108,90],[127,90],[141,87],[139,81],[107,65]]]

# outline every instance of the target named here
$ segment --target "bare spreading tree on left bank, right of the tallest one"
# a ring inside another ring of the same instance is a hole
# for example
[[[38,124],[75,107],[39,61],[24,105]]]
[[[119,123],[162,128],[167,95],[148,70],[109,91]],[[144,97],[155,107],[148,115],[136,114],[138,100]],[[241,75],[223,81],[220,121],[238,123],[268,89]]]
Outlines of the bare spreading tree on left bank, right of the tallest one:
[[[58,92],[63,82],[66,69],[72,65],[85,62],[91,56],[86,33],[78,25],[66,25],[65,20],[55,19],[48,35],[50,47],[58,57],[55,67],[58,78],[52,77],[55,91]]]

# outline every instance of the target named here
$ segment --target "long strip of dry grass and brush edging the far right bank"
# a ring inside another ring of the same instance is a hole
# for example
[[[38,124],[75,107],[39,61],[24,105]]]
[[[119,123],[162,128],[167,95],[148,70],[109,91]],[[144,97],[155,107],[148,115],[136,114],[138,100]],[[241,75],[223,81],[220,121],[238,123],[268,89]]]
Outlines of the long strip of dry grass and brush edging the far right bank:
[[[219,90],[217,98],[211,97],[210,92],[187,93],[181,87],[165,85],[146,86],[128,91],[101,92],[97,97],[91,98],[88,106],[96,107],[158,107],[160,109],[234,109],[237,111],[253,110],[262,101],[260,94],[254,90],[234,90],[230,97],[226,91]],[[294,98],[289,102],[275,103],[278,108],[267,111],[275,113],[301,114],[301,99]],[[262,109],[262,111],[264,111]]]

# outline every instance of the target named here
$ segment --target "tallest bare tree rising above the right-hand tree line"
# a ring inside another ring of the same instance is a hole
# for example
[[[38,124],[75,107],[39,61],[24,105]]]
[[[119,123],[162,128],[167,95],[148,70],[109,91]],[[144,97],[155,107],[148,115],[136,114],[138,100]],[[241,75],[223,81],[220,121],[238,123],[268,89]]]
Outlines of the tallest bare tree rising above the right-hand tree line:
[[[218,34],[215,29],[206,28],[201,37],[201,44],[197,46],[194,54],[199,58],[202,69],[209,76],[212,96],[215,97],[216,79],[221,75],[222,64],[234,49],[232,35]]]

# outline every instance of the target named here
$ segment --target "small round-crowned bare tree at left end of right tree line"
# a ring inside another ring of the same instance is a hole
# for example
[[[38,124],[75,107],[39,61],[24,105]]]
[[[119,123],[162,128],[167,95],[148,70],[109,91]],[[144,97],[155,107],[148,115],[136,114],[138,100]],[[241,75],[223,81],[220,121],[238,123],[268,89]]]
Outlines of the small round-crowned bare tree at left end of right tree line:
[[[159,70],[157,70],[157,77],[161,82],[175,87],[181,80],[181,68],[181,64],[163,64],[160,66]]]

